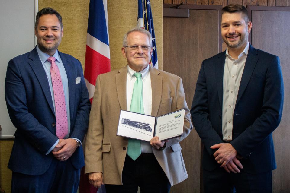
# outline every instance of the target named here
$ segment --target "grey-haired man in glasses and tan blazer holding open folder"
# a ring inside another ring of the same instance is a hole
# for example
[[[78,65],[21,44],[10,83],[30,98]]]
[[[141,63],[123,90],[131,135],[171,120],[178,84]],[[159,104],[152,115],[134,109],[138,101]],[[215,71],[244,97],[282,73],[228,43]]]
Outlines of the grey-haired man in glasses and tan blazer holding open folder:
[[[95,187],[106,184],[110,192],[169,192],[170,186],[188,175],[179,142],[192,130],[190,113],[180,77],[149,65],[152,37],[134,28],[126,33],[122,47],[128,65],[98,76],[85,144],[85,173]],[[136,72],[142,74],[144,114],[160,116],[185,109],[182,137],[140,141],[141,155],[127,154],[128,138],[117,136],[120,110],[130,110]]]

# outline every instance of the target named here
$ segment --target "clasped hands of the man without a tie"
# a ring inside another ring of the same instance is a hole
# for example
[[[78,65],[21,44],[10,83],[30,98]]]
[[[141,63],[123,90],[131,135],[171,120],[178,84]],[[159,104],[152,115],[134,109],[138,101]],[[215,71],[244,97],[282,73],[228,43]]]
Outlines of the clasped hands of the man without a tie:
[[[227,172],[240,173],[243,165],[238,159],[242,157],[237,155],[237,150],[229,143],[220,143],[211,146],[211,149],[218,149],[214,152],[215,160],[221,164]],[[237,167],[239,166],[239,168]]]

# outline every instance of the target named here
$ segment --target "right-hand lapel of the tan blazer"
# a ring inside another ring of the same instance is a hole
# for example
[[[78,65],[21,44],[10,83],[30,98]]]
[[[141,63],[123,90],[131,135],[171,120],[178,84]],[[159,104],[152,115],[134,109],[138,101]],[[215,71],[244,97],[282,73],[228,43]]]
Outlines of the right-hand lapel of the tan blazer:
[[[160,102],[161,102],[161,95],[162,95],[162,81],[163,77],[160,72],[150,66],[150,78],[151,78],[151,88],[152,88],[152,116],[157,116]]]

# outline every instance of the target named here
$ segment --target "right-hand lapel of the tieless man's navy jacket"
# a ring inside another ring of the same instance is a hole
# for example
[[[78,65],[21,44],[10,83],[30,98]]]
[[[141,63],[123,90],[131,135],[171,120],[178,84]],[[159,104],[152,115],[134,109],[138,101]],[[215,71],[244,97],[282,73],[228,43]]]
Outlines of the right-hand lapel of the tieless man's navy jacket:
[[[253,74],[253,71],[256,66],[256,63],[258,62],[258,59],[259,58],[257,56],[257,50],[250,44],[247,60],[245,63],[242,79],[240,82],[236,104],[239,102],[241,96],[243,95],[243,92],[245,91],[250,81],[250,78]]]

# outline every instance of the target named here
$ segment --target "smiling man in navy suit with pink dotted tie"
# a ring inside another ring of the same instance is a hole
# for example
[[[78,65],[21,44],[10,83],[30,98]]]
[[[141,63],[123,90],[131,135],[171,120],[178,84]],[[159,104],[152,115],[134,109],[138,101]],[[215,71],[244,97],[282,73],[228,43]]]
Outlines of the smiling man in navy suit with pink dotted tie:
[[[82,65],[57,50],[63,24],[54,9],[44,8],[37,13],[35,35],[37,46],[9,61],[5,79],[6,104],[17,129],[8,163],[12,192],[76,192],[84,166],[80,146],[91,108]],[[51,56],[55,62],[48,61]],[[59,69],[58,83],[63,84],[63,137],[57,137],[56,131],[60,122],[56,118],[58,100],[50,69],[53,63]]]

